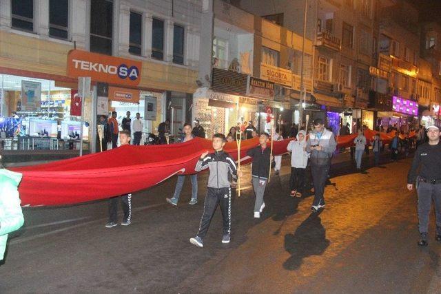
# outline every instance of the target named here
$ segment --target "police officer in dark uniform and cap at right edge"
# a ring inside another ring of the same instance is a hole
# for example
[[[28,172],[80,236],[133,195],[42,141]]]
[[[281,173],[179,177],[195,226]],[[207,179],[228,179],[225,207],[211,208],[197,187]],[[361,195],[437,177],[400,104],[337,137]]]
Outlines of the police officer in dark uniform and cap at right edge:
[[[427,246],[429,235],[429,213],[431,202],[435,202],[436,236],[441,242],[441,145],[440,129],[431,125],[427,127],[429,142],[418,146],[412,167],[407,175],[407,189],[412,191],[416,183],[418,193],[418,222],[420,240],[418,246]],[[417,171],[419,170],[419,171]]]

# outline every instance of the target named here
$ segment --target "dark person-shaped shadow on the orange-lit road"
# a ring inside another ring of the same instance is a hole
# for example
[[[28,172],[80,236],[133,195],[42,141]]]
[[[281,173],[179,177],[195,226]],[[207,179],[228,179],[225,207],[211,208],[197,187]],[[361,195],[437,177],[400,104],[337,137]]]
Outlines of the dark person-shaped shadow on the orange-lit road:
[[[330,243],[320,213],[311,213],[294,234],[285,235],[285,250],[291,257],[283,263],[283,267],[290,271],[298,269],[304,258],[322,255]]]

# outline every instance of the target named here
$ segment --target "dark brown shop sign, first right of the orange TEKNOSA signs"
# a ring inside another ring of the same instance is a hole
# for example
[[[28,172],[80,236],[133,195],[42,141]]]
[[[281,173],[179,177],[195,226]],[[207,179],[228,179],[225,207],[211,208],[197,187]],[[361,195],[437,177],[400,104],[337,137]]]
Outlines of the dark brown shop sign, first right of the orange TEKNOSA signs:
[[[245,95],[247,81],[246,74],[213,68],[212,88],[214,91]]]

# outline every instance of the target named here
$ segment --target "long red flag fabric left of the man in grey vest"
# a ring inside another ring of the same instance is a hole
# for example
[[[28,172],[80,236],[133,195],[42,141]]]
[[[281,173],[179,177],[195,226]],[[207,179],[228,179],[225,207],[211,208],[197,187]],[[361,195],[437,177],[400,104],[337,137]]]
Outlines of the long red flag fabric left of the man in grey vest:
[[[288,143],[289,139],[274,141],[274,155],[286,153]],[[257,145],[258,138],[243,140],[240,162],[250,162],[247,150]],[[225,151],[235,159],[236,146],[236,142],[225,145]],[[175,174],[194,174],[196,161],[205,150],[212,151],[212,143],[202,138],[172,145],[125,145],[12,170],[23,174],[19,186],[23,206],[75,204],[146,189]]]

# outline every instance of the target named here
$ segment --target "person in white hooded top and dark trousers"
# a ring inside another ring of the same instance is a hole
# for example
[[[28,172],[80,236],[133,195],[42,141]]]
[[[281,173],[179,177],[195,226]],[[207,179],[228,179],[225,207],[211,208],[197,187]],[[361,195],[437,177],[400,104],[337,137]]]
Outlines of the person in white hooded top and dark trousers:
[[[308,164],[308,152],[306,151],[306,132],[298,131],[297,140],[291,140],[287,150],[291,151],[291,177],[289,188],[291,197],[302,197],[305,187],[305,173]]]

